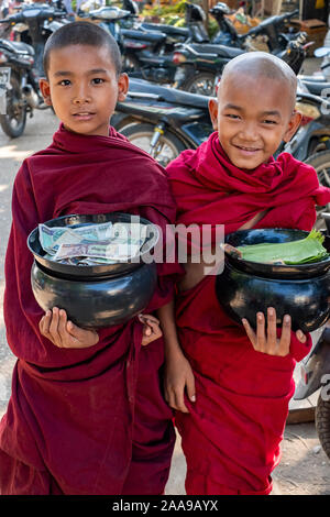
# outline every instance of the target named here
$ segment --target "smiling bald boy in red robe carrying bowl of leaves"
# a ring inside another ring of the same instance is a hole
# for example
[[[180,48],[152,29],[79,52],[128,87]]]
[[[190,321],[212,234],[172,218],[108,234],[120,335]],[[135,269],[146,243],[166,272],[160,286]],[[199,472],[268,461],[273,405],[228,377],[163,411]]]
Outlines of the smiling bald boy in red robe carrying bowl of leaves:
[[[209,111],[215,133],[184,151],[167,172],[177,223],[311,230],[316,205],[330,201],[310,166],[273,154],[296,132],[297,79],[279,58],[250,53],[232,59]],[[215,244],[215,242],[213,242]],[[196,246],[191,243],[191,246]],[[209,266],[209,264],[207,264]],[[268,494],[279,459],[293,371],[310,350],[290,317],[276,328],[270,307],[256,330],[233,323],[216,297],[215,275],[186,264],[173,304],[160,309],[166,342],[166,399],[187,460],[187,494]]]

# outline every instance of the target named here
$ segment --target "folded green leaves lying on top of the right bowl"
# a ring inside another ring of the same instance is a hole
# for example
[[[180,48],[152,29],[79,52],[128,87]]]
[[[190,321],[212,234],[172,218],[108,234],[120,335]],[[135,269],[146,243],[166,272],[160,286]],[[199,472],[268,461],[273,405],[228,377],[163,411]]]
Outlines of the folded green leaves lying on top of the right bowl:
[[[317,230],[298,241],[261,243],[237,248],[241,258],[264,264],[306,264],[319,262],[329,253],[322,245],[324,237]]]

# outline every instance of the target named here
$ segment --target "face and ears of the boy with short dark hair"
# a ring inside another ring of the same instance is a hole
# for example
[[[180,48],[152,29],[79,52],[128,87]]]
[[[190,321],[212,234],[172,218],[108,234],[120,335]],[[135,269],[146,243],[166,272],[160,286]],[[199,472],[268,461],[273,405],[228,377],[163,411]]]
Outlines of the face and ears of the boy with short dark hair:
[[[107,46],[69,45],[51,52],[47,79],[41,79],[40,86],[67,130],[107,136],[129,80],[125,74],[117,77]]]

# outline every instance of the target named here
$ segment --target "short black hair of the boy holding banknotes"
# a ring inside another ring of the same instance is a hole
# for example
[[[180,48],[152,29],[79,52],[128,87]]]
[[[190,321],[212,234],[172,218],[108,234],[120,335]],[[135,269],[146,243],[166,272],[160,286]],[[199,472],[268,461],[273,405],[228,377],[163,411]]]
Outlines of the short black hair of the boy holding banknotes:
[[[121,74],[122,61],[119,46],[114,37],[96,23],[88,21],[66,23],[48,37],[44,48],[43,66],[47,77],[50,69],[50,55],[56,48],[69,45],[107,46],[114,66],[117,77]]]

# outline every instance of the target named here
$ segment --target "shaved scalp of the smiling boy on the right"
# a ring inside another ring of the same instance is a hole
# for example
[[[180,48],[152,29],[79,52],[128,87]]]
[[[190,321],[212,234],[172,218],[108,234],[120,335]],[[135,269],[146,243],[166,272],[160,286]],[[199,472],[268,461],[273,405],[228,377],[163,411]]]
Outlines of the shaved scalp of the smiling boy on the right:
[[[267,78],[280,82],[283,95],[288,96],[289,106],[294,110],[297,77],[289,65],[279,57],[266,52],[249,52],[234,57],[223,68],[218,95],[221,95],[221,89],[227,79],[235,78],[238,80],[239,76],[241,76],[240,80],[243,80],[242,76],[245,76],[255,80]],[[242,87],[243,85],[242,82]]]

